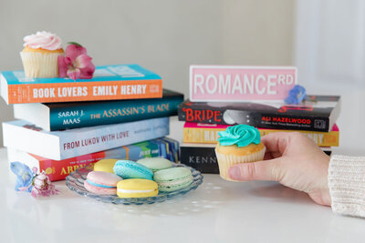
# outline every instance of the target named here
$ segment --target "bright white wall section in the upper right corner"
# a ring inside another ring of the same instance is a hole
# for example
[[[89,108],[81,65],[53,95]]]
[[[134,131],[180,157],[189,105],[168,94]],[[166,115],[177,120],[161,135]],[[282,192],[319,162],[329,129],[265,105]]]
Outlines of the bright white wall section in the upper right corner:
[[[295,64],[306,85],[364,86],[365,1],[297,0]]]

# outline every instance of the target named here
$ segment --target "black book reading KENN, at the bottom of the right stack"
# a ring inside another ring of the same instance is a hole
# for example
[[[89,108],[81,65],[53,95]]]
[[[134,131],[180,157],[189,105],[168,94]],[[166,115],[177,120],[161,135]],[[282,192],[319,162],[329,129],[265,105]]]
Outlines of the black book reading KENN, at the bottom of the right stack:
[[[182,143],[180,147],[182,164],[193,167],[202,173],[219,174],[218,161],[212,144]],[[322,147],[328,156],[332,153],[330,147]]]

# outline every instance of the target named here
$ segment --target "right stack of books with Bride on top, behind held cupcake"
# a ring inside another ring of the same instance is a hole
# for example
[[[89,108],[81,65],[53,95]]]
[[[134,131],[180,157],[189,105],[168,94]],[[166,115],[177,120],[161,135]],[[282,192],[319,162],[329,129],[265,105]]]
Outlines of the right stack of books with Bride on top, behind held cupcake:
[[[287,105],[284,99],[249,102],[187,99],[178,110],[179,120],[185,122],[181,162],[203,173],[219,173],[214,152],[218,132],[238,124],[257,127],[261,136],[297,131],[330,154],[331,147],[339,146],[339,127],[335,124],[339,103],[339,96],[310,95],[300,105]]]

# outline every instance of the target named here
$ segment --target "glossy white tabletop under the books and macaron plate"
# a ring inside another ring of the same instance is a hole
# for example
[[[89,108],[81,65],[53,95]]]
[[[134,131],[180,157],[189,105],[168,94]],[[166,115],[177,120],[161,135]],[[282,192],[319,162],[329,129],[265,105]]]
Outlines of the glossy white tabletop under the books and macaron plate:
[[[360,127],[365,115],[358,104],[365,104],[364,94],[341,93],[341,147],[335,153],[365,155]],[[181,138],[182,127],[172,120],[171,136]],[[0,149],[1,242],[365,241],[365,219],[335,215],[307,194],[275,182],[228,182],[205,174],[203,185],[184,196],[124,206],[81,197],[65,181],[55,183],[60,195],[34,199],[14,190],[15,176],[8,171],[6,151]]]

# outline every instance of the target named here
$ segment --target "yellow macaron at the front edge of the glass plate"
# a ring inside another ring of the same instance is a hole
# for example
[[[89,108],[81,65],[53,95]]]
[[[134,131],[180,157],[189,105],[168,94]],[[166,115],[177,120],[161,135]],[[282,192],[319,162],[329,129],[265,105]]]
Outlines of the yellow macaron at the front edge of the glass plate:
[[[118,197],[154,197],[159,194],[158,185],[150,179],[124,179],[117,184]]]

